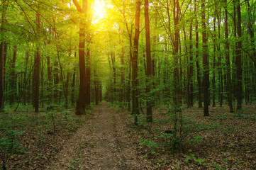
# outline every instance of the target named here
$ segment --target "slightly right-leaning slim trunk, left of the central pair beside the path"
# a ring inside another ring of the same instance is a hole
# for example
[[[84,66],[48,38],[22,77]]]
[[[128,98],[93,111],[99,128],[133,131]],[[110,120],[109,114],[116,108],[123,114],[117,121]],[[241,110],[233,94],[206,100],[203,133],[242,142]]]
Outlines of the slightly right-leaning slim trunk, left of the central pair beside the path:
[[[136,0],[136,11],[135,11],[135,35],[133,40],[133,59],[132,59],[132,98],[133,98],[133,111],[132,114],[135,116],[135,125],[138,124],[139,115],[139,104],[138,104],[138,48],[140,38],[140,0]]]

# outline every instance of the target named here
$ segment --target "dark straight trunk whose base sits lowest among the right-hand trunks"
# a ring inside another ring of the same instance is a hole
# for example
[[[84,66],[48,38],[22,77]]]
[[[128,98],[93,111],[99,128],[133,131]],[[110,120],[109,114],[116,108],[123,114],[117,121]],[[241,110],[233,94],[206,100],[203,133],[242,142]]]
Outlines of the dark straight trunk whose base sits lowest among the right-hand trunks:
[[[205,16],[205,0],[201,1],[201,9],[202,9],[202,28],[203,28],[203,33],[202,33],[202,38],[203,38],[203,67],[204,67],[204,116],[209,115],[208,111],[208,98],[209,98],[209,65],[208,65],[208,38],[206,35],[206,16]]]

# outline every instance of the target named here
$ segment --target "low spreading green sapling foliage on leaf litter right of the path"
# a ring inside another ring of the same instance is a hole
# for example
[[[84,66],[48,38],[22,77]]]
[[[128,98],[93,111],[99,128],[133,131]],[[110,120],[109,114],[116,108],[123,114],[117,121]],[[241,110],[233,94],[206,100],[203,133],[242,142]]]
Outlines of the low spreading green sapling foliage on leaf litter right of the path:
[[[184,152],[184,146],[189,143],[198,143],[204,140],[203,136],[196,135],[196,132],[202,130],[216,130],[219,124],[198,123],[191,118],[185,118],[182,115],[181,108],[168,108],[165,113],[168,118],[155,119],[154,123],[169,125],[170,129],[154,137],[157,142],[140,140],[147,147],[169,147],[172,152],[178,150]],[[161,130],[155,129],[155,132]]]

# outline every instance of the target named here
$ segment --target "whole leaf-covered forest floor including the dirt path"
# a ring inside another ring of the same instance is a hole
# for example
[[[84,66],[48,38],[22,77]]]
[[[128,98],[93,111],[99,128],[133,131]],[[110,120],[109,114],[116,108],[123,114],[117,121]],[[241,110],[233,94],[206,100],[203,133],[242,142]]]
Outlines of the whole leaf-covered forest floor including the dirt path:
[[[145,111],[144,111],[145,112]],[[23,108],[0,115],[0,135],[25,131],[18,142],[25,153],[11,154],[7,169],[256,169],[256,105],[243,112],[228,107],[182,109],[183,147],[172,149],[173,130],[165,107],[155,108],[154,123],[133,125],[128,111],[103,102],[87,115],[72,110],[33,113]],[[187,123],[187,124],[186,124]],[[191,126],[192,125],[192,126]],[[1,138],[0,136],[0,138]],[[1,154],[3,152],[1,151]],[[0,167],[2,163],[0,164]]]

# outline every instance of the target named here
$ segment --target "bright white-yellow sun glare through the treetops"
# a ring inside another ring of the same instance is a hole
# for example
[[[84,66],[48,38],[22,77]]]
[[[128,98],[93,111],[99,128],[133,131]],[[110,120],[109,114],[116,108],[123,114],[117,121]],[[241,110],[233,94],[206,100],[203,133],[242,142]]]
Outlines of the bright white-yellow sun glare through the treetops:
[[[104,16],[106,16],[106,4],[103,0],[95,0],[94,1],[94,16],[93,16],[93,22],[96,23]]]

